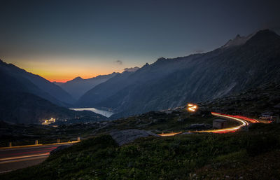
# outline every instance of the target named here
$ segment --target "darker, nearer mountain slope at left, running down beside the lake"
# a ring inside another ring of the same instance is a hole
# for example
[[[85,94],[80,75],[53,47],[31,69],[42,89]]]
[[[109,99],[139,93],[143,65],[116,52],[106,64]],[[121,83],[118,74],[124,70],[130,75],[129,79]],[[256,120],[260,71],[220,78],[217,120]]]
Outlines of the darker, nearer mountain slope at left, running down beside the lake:
[[[38,124],[45,119],[71,119],[76,116],[90,120],[105,120],[106,117],[91,111],[72,111],[52,104],[30,93],[36,86],[0,71],[0,120],[9,123]]]

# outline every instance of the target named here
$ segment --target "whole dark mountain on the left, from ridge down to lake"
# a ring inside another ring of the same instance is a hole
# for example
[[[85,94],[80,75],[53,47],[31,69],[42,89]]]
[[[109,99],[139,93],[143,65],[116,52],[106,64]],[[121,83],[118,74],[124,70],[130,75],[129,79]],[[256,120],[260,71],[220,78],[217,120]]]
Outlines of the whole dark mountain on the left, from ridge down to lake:
[[[28,73],[13,64],[0,62],[0,80],[0,120],[38,124],[50,118],[106,119],[91,111],[73,111],[63,107],[73,103],[68,93],[41,76]]]

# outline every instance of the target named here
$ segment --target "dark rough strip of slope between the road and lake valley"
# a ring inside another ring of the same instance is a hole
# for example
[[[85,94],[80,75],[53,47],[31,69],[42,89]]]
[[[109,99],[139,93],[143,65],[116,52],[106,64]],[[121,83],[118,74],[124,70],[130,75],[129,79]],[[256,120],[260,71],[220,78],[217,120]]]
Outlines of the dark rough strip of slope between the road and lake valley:
[[[216,117],[210,114],[202,117],[202,114],[190,114],[187,111],[174,111],[173,113],[149,112],[141,116],[121,118],[114,121],[101,123],[79,123],[73,125],[59,125],[58,127],[42,125],[9,125],[0,122],[0,146],[8,146],[12,142],[13,146],[34,144],[38,140],[41,144],[54,143],[59,138],[60,141],[74,140],[77,137],[88,139],[96,134],[108,133],[111,130],[140,129],[160,132],[188,132],[188,127],[195,123],[211,124]],[[106,123],[106,125],[102,125]],[[229,126],[236,122],[228,122]]]

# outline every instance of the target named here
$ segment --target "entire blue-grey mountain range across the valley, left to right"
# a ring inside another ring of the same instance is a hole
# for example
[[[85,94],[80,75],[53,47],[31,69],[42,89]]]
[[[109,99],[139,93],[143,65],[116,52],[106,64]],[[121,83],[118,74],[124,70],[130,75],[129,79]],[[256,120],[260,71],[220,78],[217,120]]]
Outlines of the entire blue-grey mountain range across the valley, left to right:
[[[66,83],[51,83],[0,61],[0,120],[38,123],[50,117],[75,118],[77,114],[106,119],[65,107],[112,109],[115,114],[111,119],[169,109],[264,83],[280,83],[279,67],[280,36],[268,29],[237,35],[208,53],[160,57],[153,64],[127,68],[123,73],[77,77]]]

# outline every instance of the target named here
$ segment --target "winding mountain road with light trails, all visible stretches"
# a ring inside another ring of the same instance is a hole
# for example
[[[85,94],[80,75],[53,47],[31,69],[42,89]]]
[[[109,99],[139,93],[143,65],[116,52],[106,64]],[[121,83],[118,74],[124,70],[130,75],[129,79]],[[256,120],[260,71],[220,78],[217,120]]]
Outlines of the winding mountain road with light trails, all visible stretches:
[[[246,127],[249,123],[259,123],[258,120],[252,118],[246,118],[245,116],[233,116],[222,113],[211,113],[213,116],[220,118],[236,120],[239,125],[235,127],[228,127],[218,130],[201,130],[201,131],[189,131],[193,132],[211,132],[211,133],[228,133],[236,132],[241,127]],[[176,134],[181,134],[182,132],[171,132],[165,134],[158,134],[162,137],[174,136]],[[60,144],[48,144],[48,145],[30,145],[30,146],[18,146],[18,147],[7,147],[0,148],[0,173],[9,172],[14,169],[20,169],[23,167],[29,167],[31,165],[36,165],[43,162],[45,158],[48,158],[50,151],[61,146],[62,144],[70,146],[78,141],[72,141],[69,143]]]

